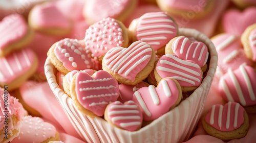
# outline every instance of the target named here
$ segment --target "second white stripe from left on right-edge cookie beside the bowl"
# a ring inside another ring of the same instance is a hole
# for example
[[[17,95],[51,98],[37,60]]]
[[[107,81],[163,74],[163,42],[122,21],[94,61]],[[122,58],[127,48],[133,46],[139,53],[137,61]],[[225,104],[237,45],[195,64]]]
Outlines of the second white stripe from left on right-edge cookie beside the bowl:
[[[240,84],[238,82],[238,79],[237,77],[234,75],[233,71],[231,68],[228,68],[228,74],[231,78],[231,81],[233,82],[233,85],[234,87],[236,88],[236,91],[237,91],[237,94],[238,94],[238,97],[239,97],[239,100],[240,100],[240,103],[243,105],[243,106],[246,106],[246,101],[244,99],[244,94],[242,92],[242,89],[240,87]]]

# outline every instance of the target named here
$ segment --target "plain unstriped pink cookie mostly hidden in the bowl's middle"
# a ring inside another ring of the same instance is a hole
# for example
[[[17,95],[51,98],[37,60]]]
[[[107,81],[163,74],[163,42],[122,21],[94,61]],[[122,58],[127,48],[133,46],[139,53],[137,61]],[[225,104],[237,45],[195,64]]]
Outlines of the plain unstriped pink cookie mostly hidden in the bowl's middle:
[[[148,86],[148,84],[145,82],[140,82],[136,85],[119,84],[120,96],[117,100],[122,103],[132,100],[133,94],[135,91],[137,91],[138,89],[140,89],[142,87],[147,87],[147,86]]]

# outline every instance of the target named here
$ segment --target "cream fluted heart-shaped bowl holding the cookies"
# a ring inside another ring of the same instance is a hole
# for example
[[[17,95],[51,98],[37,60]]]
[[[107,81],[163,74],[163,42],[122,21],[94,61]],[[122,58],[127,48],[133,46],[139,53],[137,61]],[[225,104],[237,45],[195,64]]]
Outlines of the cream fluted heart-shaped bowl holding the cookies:
[[[103,118],[83,115],[73,105],[72,99],[59,88],[56,82],[56,68],[47,58],[45,74],[51,90],[58,99],[69,120],[88,142],[182,142],[189,139],[202,115],[204,103],[215,75],[218,56],[211,40],[194,29],[180,28],[180,35],[194,37],[204,42],[209,50],[208,68],[202,84],[177,107],[154,120],[138,131],[119,129]]]

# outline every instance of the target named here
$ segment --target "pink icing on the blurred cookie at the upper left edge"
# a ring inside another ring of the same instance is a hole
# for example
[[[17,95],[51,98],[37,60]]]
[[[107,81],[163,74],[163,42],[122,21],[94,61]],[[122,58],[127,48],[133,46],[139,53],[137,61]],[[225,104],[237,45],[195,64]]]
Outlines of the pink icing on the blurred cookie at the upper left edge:
[[[28,25],[22,15],[12,14],[0,22],[0,31],[0,50],[4,50],[7,45],[26,36]]]

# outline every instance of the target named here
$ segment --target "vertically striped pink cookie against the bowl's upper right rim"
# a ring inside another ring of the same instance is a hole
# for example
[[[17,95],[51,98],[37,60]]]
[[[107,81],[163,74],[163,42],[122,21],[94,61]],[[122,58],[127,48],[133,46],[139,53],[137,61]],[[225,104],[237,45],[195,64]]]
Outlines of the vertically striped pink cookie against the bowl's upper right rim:
[[[165,54],[175,54],[182,60],[195,61],[203,70],[207,69],[209,52],[207,46],[194,38],[175,37],[166,44]]]

